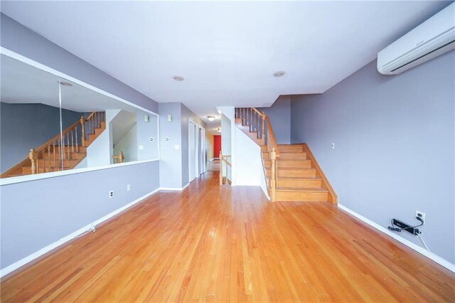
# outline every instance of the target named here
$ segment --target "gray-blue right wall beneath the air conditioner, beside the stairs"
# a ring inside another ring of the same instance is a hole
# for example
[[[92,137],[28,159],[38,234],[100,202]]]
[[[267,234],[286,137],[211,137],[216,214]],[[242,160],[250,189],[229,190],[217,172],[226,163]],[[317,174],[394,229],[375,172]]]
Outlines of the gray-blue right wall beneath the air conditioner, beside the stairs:
[[[454,67],[454,51],[395,76],[373,61],[321,95],[291,100],[291,141],[308,142],[339,202],[384,227],[392,218],[417,225],[414,212],[424,211],[424,240],[452,263]]]

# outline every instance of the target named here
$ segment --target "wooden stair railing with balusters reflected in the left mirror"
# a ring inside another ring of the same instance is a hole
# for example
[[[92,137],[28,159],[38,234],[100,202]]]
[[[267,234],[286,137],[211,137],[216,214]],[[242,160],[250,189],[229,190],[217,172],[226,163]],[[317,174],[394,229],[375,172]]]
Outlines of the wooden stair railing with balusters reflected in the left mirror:
[[[80,121],[75,122],[38,149],[30,149],[26,159],[5,171],[0,178],[6,178],[26,166],[31,168],[31,174],[54,171],[55,168],[65,170],[65,160],[70,160],[72,152],[79,152],[80,146],[86,147],[86,136],[95,134],[95,128],[101,127],[105,117],[105,112],[92,112],[87,118],[80,117]]]

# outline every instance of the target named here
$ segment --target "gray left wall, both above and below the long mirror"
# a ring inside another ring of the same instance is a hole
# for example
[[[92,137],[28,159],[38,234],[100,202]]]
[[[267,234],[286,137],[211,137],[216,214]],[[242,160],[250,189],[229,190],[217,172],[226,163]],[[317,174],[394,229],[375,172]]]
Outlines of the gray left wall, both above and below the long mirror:
[[[156,112],[133,90],[1,14],[1,46]],[[90,193],[73,193],[75,184]],[[126,192],[127,184],[132,191]],[[159,188],[158,161],[1,186],[1,268]],[[109,190],[115,198],[109,199]],[[70,198],[74,196],[75,198]],[[65,199],[57,198],[65,197]]]

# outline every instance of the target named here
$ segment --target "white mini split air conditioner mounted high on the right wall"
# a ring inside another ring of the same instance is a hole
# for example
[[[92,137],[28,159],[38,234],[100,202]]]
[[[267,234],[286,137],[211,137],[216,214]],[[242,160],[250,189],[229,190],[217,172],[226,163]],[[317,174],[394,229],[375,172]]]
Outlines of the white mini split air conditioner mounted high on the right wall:
[[[378,71],[397,75],[455,48],[455,3],[378,53]]]

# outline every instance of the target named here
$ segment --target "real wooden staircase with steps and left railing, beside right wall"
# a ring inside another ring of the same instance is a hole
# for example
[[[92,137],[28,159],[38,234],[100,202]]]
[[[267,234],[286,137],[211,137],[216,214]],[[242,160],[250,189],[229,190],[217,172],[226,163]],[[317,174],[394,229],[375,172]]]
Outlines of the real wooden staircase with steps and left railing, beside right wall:
[[[254,107],[236,108],[235,124],[261,147],[270,200],[338,203],[307,144],[277,144],[270,119]]]

